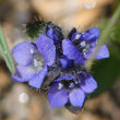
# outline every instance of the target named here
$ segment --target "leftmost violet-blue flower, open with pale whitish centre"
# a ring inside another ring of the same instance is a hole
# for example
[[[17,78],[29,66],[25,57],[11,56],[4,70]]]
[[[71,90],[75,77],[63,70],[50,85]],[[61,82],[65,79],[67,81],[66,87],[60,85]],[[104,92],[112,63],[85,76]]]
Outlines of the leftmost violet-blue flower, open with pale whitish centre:
[[[12,79],[15,82],[28,82],[31,86],[40,88],[48,67],[56,61],[56,46],[53,39],[41,34],[35,45],[27,41],[17,44],[12,49],[12,55],[17,63]]]

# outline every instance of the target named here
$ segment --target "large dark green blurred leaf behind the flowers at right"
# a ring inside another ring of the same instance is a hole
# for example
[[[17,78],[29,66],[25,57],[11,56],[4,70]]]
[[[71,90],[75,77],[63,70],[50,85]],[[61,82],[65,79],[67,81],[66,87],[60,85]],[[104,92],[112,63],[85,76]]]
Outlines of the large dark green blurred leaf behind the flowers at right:
[[[120,47],[117,46],[113,43],[109,46],[110,58],[94,62],[91,73],[97,81],[98,88],[92,96],[99,95],[110,88],[120,76]]]

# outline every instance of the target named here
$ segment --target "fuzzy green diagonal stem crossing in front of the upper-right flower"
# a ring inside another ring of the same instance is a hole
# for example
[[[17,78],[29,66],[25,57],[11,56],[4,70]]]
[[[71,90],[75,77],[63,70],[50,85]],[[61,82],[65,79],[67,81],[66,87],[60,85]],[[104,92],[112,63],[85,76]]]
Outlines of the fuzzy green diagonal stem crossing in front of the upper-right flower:
[[[94,62],[94,58],[97,55],[97,52],[99,51],[100,46],[108,40],[107,39],[108,38],[108,35],[110,34],[110,32],[111,32],[113,25],[116,24],[116,22],[118,21],[119,16],[120,16],[120,3],[118,5],[115,14],[110,19],[110,21],[109,21],[106,29],[103,32],[103,34],[101,34],[101,36],[100,36],[100,38],[98,40],[98,44],[97,44],[94,52],[92,53],[91,58],[86,61],[85,67],[86,67],[87,70],[89,70],[92,68],[92,64]]]

